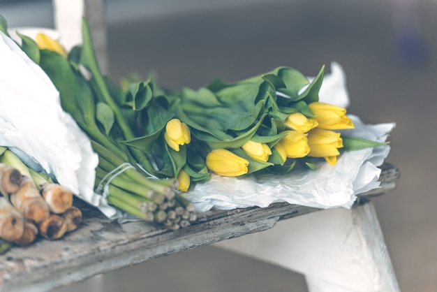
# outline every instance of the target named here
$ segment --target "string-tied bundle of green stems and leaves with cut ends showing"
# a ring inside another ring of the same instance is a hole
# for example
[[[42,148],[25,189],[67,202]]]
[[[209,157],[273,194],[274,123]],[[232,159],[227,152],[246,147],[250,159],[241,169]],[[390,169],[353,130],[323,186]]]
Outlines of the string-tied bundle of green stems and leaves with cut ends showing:
[[[82,47],[73,48],[68,59],[40,50],[40,66],[59,90],[62,108],[87,134],[98,154],[95,191],[115,207],[146,221],[173,229],[188,226],[196,216],[193,205],[176,191],[177,179],[157,178],[147,153],[121,143],[135,139],[137,112],[120,105],[114,86],[101,73],[85,20],[82,36]]]

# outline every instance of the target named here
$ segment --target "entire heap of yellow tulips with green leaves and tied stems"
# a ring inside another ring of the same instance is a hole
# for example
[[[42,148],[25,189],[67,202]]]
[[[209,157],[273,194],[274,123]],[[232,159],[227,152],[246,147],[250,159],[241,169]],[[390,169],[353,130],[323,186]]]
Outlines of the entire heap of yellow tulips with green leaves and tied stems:
[[[116,85],[99,71],[86,20],[82,36],[71,52],[44,35],[36,41],[21,36],[21,48],[49,75],[62,108],[89,136],[99,156],[96,189],[128,163],[111,177],[106,195],[142,219],[188,226],[195,221],[193,206],[179,191],[209,180],[210,173],[284,174],[297,164],[335,164],[343,151],[383,144],[338,131],[354,125],[344,108],[319,102],[324,67],[311,82],[280,67],[200,89],[163,89],[154,78]]]

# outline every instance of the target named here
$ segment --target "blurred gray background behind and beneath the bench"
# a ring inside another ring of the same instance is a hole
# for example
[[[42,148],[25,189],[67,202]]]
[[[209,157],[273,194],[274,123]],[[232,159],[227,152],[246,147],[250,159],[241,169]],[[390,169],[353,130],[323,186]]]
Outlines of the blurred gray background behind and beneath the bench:
[[[10,26],[52,27],[50,3],[3,0],[0,13]],[[387,161],[401,179],[373,202],[401,291],[437,291],[436,1],[108,0],[106,13],[114,80],[154,71],[160,85],[179,89],[276,66],[315,75],[338,61],[348,112],[397,123]],[[103,278],[117,282],[113,291],[306,291],[302,275],[214,247]],[[57,291],[87,291],[103,278]]]

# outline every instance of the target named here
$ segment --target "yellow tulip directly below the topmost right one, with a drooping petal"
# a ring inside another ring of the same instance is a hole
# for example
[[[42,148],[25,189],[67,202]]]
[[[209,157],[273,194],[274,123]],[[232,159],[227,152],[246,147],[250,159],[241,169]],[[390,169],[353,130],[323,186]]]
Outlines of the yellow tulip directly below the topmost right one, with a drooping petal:
[[[324,157],[329,164],[334,165],[336,156],[340,154],[339,148],[343,147],[343,140],[340,133],[313,129],[308,133],[308,144],[311,148],[308,156]]]

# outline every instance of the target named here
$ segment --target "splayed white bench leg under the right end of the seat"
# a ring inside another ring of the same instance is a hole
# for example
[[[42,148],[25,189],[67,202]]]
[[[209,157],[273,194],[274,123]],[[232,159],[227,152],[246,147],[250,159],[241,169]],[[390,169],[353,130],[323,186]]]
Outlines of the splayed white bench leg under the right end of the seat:
[[[372,203],[279,221],[214,245],[302,273],[311,292],[399,291]]]

